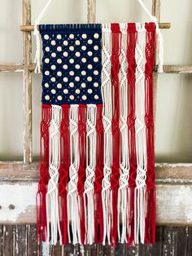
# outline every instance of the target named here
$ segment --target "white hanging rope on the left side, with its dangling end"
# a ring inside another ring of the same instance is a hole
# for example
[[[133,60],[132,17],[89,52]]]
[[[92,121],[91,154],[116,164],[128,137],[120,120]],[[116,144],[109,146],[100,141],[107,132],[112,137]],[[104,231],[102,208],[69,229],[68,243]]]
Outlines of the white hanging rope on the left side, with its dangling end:
[[[34,32],[33,35],[36,37],[36,53],[35,53],[35,59],[34,59],[34,63],[36,64],[35,67],[35,73],[41,73],[41,35],[39,33],[38,30],[38,25],[40,24],[40,21],[42,19],[42,17],[45,15],[46,13],[46,9],[49,7],[51,0],[49,0],[46,3],[46,6],[43,8],[43,10],[41,11],[40,15],[37,17],[37,20],[35,20],[35,24],[34,24]]]

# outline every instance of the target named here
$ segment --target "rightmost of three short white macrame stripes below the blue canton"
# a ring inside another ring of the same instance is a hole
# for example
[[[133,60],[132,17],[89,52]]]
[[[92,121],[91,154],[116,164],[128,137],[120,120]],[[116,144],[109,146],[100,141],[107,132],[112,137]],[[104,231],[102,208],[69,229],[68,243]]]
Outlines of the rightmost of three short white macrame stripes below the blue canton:
[[[84,191],[85,203],[85,244],[94,243],[94,173],[96,166],[96,114],[95,104],[87,105],[86,120],[86,179]]]

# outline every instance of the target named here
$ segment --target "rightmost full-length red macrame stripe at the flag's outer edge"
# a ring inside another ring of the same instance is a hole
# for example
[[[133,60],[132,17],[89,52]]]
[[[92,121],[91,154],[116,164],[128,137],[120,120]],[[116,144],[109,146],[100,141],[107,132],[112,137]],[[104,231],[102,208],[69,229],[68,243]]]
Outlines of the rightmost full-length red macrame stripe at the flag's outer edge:
[[[146,24],[146,244],[155,243],[155,149],[154,149],[154,119],[153,119],[153,68],[155,64],[155,24]]]

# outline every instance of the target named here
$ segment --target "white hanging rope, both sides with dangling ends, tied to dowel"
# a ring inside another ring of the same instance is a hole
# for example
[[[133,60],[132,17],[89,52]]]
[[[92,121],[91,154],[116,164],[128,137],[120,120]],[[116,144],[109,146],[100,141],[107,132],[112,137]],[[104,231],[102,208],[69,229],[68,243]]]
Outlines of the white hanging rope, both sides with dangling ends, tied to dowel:
[[[164,64],[164,38],[162,36],[162,33],[160,32],[159,29],[159,24],[158,24],[158,20],[154,15],[151,15],[151,12],[146,8],[144,2],[142,2],[142,0],[137,0],[140,5],[142,6],[142,8],[144,9],[144,11],[146,11],[146,14],[149,15],[149,17],[151,18],[151,21],[155,23],[156,26],[156,33],[157,33],[157,42],[158,42],[158,73],[163,73],[163,64]],[[35,55],[35,60],[34,63],[36,64],[36,68],[35,68],[35,73],[41,73],[41,63],[40,63],[40,48],[41,48],[41,35],[39,33],[38,30],[38,24],[40,24],[41,19],[43,18],[43,16],[46,13],[47,8],[50,5],[51,0],[49,0],[46,3],[46,6],[42,9],[40,15],[38,16],[37,20],[35,21],[35,25],[34,25],[34,36],[36,37],[36,55]]]

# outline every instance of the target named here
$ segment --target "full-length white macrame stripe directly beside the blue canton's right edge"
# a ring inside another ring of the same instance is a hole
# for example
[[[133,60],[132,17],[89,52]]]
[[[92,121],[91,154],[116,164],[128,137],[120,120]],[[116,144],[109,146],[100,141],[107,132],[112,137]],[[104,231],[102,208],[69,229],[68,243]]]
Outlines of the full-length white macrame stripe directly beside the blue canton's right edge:
[[[103,127],[104,127],[104,168],[103,168],[103,245],[107,238],[110,244],[111,209],[110,209],[110,178],[111,178],[111,25],[103,24],[102,27],[102,97],[103,97]]]

